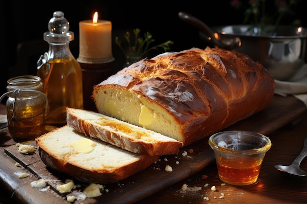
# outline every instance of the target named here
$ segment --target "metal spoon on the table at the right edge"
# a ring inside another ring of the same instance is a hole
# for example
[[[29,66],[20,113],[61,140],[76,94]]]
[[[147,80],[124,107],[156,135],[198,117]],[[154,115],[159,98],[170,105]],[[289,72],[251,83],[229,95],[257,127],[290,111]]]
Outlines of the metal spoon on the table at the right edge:
[[[307,173],[300,169],[300,163],[301,161],[307,156],[307,138],[304,140],[304,147],[301,151],[301,153],[297,156],[297,158],[292,162],[289,166],[283,166],[283,165],[275,165],[275,168],[282,172],[286,172],[289,174],[293,174],[296,176],[303,176],[306,177]]]

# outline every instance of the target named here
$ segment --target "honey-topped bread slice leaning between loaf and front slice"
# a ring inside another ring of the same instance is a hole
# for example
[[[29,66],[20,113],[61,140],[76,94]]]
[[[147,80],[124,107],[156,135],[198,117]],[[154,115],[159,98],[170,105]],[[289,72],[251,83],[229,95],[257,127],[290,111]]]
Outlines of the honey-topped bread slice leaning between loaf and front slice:
[[[89,135],[137,154],[177,154],[182,142],[163,136],[101,113],[67,108],[67,125]]]

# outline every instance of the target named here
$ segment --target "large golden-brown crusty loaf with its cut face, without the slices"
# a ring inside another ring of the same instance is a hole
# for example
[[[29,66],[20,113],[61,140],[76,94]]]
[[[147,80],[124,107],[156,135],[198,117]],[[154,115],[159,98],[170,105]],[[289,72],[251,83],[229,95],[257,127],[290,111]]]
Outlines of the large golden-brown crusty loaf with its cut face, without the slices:
[[[273,95],[260,63],[207,47],[140,60],[95,85],[92,96],[99,113],[186,146],[263,110]]]

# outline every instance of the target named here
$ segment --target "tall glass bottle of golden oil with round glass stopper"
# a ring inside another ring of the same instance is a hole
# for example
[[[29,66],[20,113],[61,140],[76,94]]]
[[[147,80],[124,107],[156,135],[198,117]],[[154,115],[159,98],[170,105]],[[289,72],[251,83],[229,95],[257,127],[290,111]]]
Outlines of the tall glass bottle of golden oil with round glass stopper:
[[[70,51],[74,33],[69,31],[69,22],[63,12],[53,13],[48,30],[44,40],[49,50],[37,62],[37,76],[48,98],[45,123],[62,126],[66,124],[66,107],[83,109],[82,69]]]

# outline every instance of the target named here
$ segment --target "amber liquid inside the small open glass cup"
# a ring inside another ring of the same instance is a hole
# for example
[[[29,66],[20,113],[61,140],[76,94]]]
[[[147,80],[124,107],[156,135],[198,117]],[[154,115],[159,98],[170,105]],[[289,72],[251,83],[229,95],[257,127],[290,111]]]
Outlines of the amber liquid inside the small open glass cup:
[[[234,185],[249,185],[257,181],[261,162],[257,157],[244,161],[220,158],[217,162],[219,177]]]

